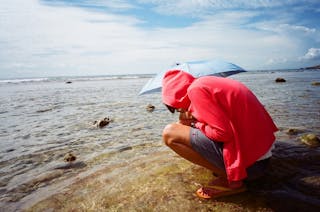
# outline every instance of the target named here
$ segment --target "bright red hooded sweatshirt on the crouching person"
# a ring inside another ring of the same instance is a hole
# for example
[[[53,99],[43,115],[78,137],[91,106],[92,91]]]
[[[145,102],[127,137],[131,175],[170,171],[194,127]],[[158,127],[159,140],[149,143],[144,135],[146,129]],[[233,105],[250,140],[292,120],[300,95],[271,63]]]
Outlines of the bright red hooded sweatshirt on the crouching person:
[[[223,159],[229,181],[247,177],[246,168],[271,148],[278,129],[257,97],[230,78],[195,79],[168,71],[162,81],[162,100],[183,108],[196,118],[196,128],[214,141],[223,142]]]

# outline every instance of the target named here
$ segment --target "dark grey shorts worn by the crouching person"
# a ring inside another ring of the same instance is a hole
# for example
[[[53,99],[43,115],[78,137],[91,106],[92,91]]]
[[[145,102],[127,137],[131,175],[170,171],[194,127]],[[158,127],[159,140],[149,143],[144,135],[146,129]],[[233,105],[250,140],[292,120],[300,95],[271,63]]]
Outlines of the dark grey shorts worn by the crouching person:
[[[225,170],[225,165],[223,161],[223,142],[217,142],[210,140],[206,135],[204,135],[199,129],[191,128],[190,130],[190,142],[193,150],[198,152],[202,157],[204,157],[211,164]],[[256,161],[252,166],[247,168],[247,179],[254,180],[264,175],[270,158]]]

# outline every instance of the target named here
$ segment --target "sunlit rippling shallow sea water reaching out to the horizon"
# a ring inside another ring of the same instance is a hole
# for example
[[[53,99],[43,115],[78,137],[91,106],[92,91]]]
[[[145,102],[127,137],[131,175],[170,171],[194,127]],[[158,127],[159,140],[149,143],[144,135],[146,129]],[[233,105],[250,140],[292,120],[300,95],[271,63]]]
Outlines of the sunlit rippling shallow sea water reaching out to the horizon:
[[[275,83],[277,77],[287,82]],[[311,84],[320,81],[319,71],[231,78],[245,83],[265,105],[280,128],[277,140],[298,142],[285,134],[288,128],[320,135],[320,86]],[[38,203],[32,210],[217,209],[192,195],[210,173],[162,144],[163,127],[177,115],[162,105],[160,93],[137,95],[147,80],[0,82],[0,208],[14,211]],[[156,107],[152,113],[146,111],[149,103]],[[93,125],[104,117],[113,122],[101,129]],[[63,161],[69,152],[77,156],[71,164]],[[172,191],[175,186],[179,189]],[[66,208],[66,197],[75,205]],[[260,207],[246,198],[244,208]],[[222,207],[237,210],[241,202],[235,198]]]

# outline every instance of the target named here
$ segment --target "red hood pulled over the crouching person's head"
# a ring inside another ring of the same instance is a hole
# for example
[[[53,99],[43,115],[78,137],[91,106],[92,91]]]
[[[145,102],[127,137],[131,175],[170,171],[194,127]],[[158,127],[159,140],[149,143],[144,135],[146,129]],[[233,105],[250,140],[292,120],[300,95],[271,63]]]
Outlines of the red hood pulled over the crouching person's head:
[[[195,78],[181,70],[167,71],[162,79],[162,101],[174,108],[188,110],[190,100],[187,90]]]

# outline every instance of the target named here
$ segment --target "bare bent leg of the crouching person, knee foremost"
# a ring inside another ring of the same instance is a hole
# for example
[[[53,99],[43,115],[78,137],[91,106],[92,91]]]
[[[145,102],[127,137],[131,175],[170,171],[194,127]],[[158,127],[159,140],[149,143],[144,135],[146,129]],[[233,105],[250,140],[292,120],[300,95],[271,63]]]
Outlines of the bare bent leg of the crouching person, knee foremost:
[[[190,143],[190,129],[189,126],[178,123],[168,124],[163,130],[163,141],[181,157],[211,170],[219,177],[226,178],[225,170],[214,166],[198,152],[193,150]]]

